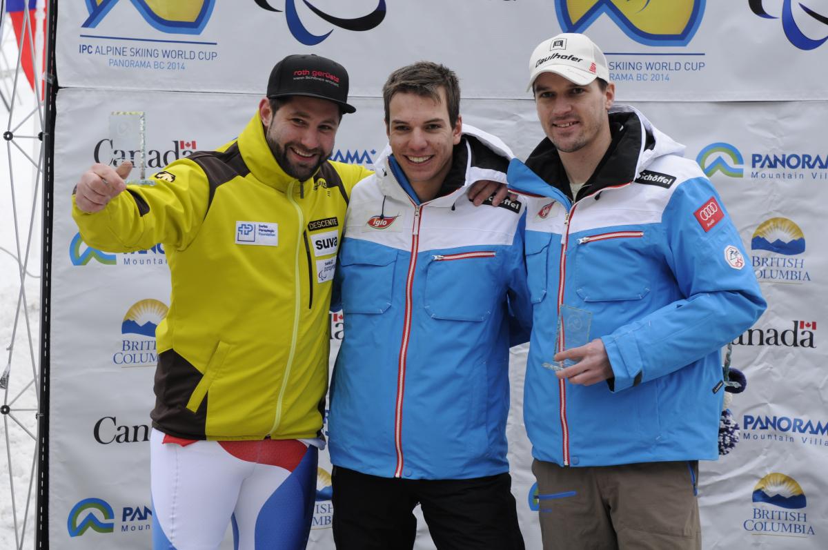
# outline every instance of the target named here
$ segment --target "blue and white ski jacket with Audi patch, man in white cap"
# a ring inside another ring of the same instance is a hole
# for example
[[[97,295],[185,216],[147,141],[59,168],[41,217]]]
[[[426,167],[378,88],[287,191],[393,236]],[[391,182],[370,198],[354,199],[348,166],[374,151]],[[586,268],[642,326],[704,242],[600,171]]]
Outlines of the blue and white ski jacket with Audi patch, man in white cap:
[[[510,187],[532,197],[532,455],[561,466],[715,460],[720,348],[766,304],[720,196],[684,147],[628,107],[612,109],[610,123],[613,145],[574,204],[548,140],[508,169]],[[549,368],[568,347],[562,306],[590,311],[590,340],[603,340],[612,364],[607,384],[570,384]]]

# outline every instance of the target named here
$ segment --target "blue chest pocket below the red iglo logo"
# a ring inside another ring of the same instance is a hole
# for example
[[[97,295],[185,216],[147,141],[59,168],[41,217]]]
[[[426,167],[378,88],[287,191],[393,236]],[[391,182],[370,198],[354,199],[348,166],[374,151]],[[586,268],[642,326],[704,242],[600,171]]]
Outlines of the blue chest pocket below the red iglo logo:
[[[344,243],[339,251],[342,311],[379,314],[391,306],[397,250]]]

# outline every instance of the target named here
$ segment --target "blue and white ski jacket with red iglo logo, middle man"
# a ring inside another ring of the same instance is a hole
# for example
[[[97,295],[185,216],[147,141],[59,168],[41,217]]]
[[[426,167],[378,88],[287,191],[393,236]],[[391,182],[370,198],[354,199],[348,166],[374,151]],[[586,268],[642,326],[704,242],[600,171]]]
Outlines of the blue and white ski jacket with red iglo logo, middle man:
[[[524,208],[469,202],[474,181],[506,182],[513,156],[497,137],[463,132],[443,185],[455,191],[420,203],[386,147],[351,193],[335,278],[335,466],[426,480],[508,471],[509,313],[531,322]],[[527,328],[513,338],[528,340]]]

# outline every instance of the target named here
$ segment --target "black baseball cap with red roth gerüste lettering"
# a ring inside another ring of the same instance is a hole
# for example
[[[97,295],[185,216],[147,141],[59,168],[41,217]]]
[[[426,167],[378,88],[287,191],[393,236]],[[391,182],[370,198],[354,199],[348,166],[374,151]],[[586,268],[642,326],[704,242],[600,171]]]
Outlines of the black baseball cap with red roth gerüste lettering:
[[[288,55],[279,61],[267,80],[267,97],[306,95],[328,99],[345,113],[357,109],[348,102],[348,71],[334,60],[321,55]]]

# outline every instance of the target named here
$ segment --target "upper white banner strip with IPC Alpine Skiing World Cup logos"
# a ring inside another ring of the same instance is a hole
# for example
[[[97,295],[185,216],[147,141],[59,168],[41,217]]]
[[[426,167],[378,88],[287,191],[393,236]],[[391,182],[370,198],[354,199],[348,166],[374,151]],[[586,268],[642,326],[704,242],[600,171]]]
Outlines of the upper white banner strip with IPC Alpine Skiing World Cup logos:
[[[429,59],[467,97],[525,98],[534,47],[573,31],[625,100],[828,99],[822,0],[85,0],[58,17],[61,86],[257,93],[276,60],[314,52],[353,95]]]

